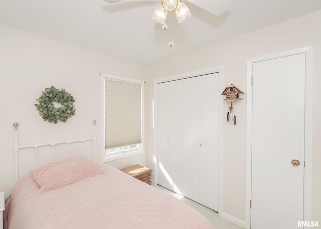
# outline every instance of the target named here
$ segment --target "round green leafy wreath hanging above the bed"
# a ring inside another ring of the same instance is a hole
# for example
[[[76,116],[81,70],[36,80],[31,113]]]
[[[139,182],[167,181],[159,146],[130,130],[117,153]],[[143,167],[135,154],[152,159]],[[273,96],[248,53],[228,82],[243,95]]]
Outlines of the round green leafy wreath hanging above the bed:
[[[68,118],[75,114],[75,99],[65,89],[59,90],[51,86],[41,93],[42,95],[36,99],[39,104],[35,104],[35,106],[45,121],[57,123],[60,120],[66,122]],[[60,103],[61,107],[56,108],[53,102]]]

